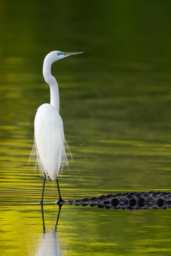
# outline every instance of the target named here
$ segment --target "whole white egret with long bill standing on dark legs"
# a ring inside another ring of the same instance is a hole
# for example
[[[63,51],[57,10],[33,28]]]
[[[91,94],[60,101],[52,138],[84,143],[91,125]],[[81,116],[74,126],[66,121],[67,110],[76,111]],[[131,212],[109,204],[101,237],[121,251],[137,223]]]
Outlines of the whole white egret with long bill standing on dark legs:
[[[67,154],[71,154],[64,137],[63,121],[59,114],[59,90],[54,76],[51,75],[51,65],[53,62],[63,59],[67,56],[80,54],[83,52],[50,52],[43,63],[43,76],[45,82],[50,86],[50,104],[41,105],[35,116],[35,142],[30,157],[36,157],[35,169],[38,167],[40,173],[43,173],[43,188],[40,203],[43,203],[43,193],[45,179],[48,175],[51,180],[57,181],[59,200],[62,202],[58,184],[59,171],[68,166]]]

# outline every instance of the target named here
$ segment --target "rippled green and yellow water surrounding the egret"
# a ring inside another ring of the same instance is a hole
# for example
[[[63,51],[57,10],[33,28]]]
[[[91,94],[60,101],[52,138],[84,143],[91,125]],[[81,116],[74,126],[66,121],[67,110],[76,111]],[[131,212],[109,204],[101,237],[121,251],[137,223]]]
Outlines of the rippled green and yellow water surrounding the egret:
[[[63,198],[171,191],[170,1],[0,7],[0,254],[43,255],[53,237],[56,254],[46,255],[170,255],[170,209],[63,206],[55,233],[58,206],[45,204],[43,240],[41,207],[33,204],[43,179],[27,165],[35,113],[50,102],[43,60],[53,50],[84,51],[52,66],[74,159],[59,178]],[[48,183],[44,197],[53,201]]]

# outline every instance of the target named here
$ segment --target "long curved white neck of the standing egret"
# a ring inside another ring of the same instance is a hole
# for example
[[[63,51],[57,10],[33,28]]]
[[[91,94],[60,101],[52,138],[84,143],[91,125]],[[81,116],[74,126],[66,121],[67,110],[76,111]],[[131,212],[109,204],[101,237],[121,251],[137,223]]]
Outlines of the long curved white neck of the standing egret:
[[[52,60],[46,56],[43,63],[43,76],[45,82],[49,83],[50,86],[50,104],[56,107],[59,112],[59,89],[55,77],[51,74],[52,63]]]

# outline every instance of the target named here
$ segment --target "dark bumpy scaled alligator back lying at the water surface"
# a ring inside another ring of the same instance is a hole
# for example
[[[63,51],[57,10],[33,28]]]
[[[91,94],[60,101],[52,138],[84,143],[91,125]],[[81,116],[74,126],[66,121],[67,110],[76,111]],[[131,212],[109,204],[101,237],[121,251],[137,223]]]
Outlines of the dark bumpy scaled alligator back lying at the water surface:
[[[100,195],[99,197],[91,197],[68,200],[64,202],[56,202],[57,204],[67,204],[67,205],[90,205],[94,207],[97,205],[98,208],[113,208],[118,209],[128,209],[128,210],[139,210],[139,209],[166,209],[171,208],[171,193],[170,192],[130,192],[130,193],[117,193],[115,195]]]

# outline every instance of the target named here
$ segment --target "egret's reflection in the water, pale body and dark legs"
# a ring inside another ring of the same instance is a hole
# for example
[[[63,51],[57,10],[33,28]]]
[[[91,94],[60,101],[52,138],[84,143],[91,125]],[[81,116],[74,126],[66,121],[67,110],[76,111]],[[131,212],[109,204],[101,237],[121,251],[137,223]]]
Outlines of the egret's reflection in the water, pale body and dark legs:
[[[43,205],[41,205],[42,221],[43,221],[43,238],[39,241],[39,243],[36,247],[35,256],[62,256],[62,255],[64,255],[65,250],[61,250],[62,244],[61,244],[61,241],[58,238],[58,235],[56,232],[61,207],[62,206],[59,205],[59,212],[58,212],[55,229],[52,226],[52,228],[49,230],[49,232],[46,232],[45,231],[44,215],[43,215]]]

